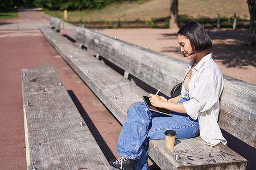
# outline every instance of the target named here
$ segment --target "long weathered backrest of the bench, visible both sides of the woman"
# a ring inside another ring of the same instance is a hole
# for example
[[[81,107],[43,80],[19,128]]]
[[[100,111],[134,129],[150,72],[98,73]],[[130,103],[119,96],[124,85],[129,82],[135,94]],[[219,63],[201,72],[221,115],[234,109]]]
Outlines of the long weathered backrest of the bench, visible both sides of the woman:
[[[150,86],[170,95],[184,78],[187,63],[141,46],[77,27],[76,40]],[[218,124],[228,133],[255,147],[256,86],[224,75]],[[250,117],[250,118],[249,118]]]

